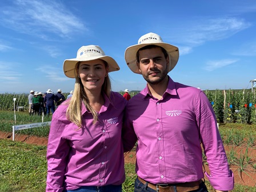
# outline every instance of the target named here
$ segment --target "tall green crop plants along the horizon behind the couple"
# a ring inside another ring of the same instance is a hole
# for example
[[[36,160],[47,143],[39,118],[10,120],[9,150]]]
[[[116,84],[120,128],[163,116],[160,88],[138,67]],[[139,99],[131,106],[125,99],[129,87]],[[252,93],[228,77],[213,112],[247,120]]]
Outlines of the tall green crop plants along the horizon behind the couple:
[[[256,124],[256,95],[251,90],[206,90],[207,98],[213,106],[218,123]],[[67,97],[69,93],[64,93]],[[121,93],[123,94],[123,93]],[[135,93],[137,94],[137,93]],[[29,94],[0,94],[0,110],[15,110],[18,106],[28,109]],[[134,93],[131,93],[133,97]]]

